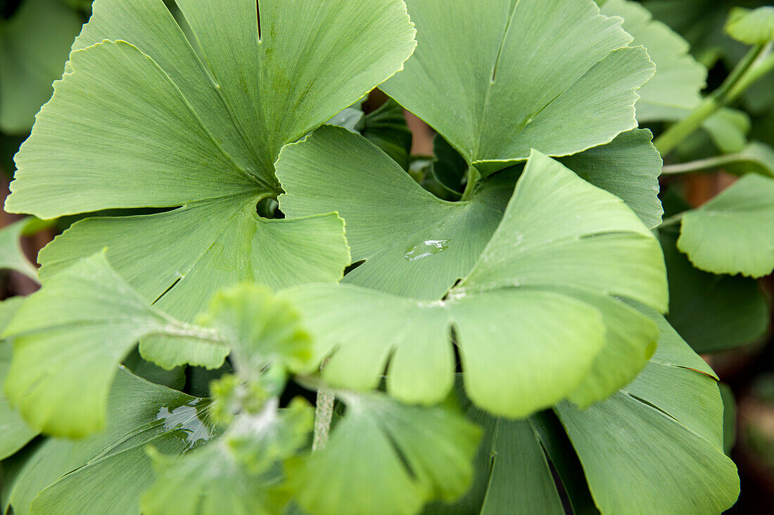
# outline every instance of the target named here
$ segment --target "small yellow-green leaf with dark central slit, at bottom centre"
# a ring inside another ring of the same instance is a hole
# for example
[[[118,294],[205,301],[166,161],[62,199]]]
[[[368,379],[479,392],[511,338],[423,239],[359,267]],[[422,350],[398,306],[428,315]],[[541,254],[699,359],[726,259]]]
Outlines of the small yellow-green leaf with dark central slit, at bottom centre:
[[[347,405],[327,445],[293,474],[294,499],[315,515],[418,513],[470,486],[481,431],[445,406],[338,392]]]

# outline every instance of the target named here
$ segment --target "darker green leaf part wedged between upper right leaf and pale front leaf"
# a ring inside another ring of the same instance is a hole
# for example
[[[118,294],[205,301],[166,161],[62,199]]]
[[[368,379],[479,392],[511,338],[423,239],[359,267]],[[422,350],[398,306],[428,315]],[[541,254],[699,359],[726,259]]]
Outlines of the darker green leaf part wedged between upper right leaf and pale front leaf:
[[[661,155],[645,129],[622,132],[607,145],[589,148],[559,161],[591,182],[618,196],[648,227],[661,223],[659,200]]]

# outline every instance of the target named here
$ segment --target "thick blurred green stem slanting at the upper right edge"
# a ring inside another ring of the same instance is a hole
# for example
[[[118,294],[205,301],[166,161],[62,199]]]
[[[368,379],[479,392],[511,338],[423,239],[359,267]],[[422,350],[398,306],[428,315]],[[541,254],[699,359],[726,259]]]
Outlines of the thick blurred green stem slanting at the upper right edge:
[[[686,118],[673,124],[653,141],[661,155],[666,155],[692,135],[707,118],[721,107],[735,101],[748,87],[774,69],[772,43],[753,46],[726,77],[721,87],[704,98]]]

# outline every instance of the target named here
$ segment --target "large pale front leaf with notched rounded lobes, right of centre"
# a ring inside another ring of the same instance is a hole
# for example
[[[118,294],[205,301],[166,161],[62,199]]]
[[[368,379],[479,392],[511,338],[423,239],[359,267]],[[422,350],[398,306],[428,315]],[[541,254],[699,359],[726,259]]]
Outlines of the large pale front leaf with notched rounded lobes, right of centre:
[[[435,197],[428,203],[459,209]],[[419,261],[435,261],[446,252]],[[577,274],[579,269],[584,274]],[[390,269],[385,276],[396,282],[434,278],[433,268],[413,277],[400,271]],[[373,388],[389,362],[390,394],[407,402],[440,401],[453,380],[453,326],[468,397],[509,417],[570,395],[584,405],[597,401],[645,365],[655,328],[608,295],[666,310],[663,256],[649,230],[621,200],[538,152],[485,249],[459,274],[447,276],[447,288],[455,277],[464,279],[442,300],[443,292],[427,300],[390,292],[392,285],[380,292],[382,285],[374,284],[365,285],[376,289],[310,285],[286,295],[313,334],[316,359],[334,353],[323,372],[331,383]],[[601,352],[605,346],[611,348]]]

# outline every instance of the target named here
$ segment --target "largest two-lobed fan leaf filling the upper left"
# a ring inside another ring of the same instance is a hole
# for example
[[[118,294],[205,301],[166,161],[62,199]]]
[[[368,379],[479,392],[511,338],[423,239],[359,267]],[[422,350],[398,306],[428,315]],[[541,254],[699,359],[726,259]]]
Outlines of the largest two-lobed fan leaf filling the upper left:
[[[6,210],[176,208],[85,220],[41,261],[66,267],[108,246],[120,275],[187,321],[238,281],[336,281],[349,262],[338,217],[268,221],[256,204],[279,193],[284,144],[401,69],[416,46],[406,5],[178,4],[190,42],[162,0],[94,2],[16,158]]]

